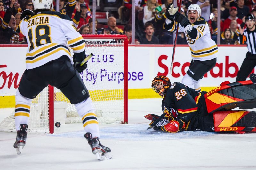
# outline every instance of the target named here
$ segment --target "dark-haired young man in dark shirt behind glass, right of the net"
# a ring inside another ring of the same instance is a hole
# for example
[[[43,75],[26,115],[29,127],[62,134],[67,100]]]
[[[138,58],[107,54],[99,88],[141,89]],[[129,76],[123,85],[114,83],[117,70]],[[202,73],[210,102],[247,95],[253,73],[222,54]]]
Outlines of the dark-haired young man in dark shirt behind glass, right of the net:
[[[144,25],[144,30],[146,34],[141,38],[140,44],[159,44],[158,38],[153,36],[154,26],[152,23],[146,22],[146,24]]]

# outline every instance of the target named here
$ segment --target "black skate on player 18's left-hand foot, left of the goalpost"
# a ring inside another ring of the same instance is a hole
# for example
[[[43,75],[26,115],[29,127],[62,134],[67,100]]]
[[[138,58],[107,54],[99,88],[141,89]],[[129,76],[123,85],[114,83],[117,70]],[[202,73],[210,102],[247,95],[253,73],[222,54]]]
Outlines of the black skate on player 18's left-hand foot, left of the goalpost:
[[[17,131],[17,137],[13,147],[16,149],[18,155],[21,154],[22,148],[26,144],[27,129],[28,129],[27,124],[20,124],[20,131]]]

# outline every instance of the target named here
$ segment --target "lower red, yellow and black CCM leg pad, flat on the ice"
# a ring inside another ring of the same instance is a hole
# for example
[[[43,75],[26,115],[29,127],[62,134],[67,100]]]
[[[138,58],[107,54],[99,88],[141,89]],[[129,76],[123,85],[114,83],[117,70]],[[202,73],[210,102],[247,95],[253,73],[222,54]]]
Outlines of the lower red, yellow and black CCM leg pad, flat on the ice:
[[[256,132],[256,112],[246,110],[227,110],[213,113],[214,131]]]

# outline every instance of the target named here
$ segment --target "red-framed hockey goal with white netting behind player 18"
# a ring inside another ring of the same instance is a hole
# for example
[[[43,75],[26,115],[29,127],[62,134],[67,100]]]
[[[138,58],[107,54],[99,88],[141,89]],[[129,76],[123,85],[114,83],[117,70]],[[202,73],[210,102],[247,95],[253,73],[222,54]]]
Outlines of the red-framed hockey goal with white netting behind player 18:
[[[100,123],[128,123],[128,42],[121,35],[83,35],[85,54],[93,53],[88,66],[80,73]],[[72,50],[71,50],[72,54]],[[58,109],[66,114],[65,123],[80,123],[76,108],[51,86],[33,99],[28,131],[53,133]],[[53,116],[54,115],[54,116]],[[62,115],[63,116],[63,115]],[[0,123],[0,131],[16,131],[14,111]]]

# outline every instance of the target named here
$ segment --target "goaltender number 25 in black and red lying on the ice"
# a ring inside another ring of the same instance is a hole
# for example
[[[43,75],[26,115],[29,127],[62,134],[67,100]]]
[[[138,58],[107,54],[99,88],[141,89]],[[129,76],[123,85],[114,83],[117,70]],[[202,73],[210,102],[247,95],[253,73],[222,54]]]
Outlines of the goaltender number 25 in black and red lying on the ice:
[[[245,110],[256,108],[254,73],[248,81],[225,81],[209,92],[198,93],[181,83],[171,84],[165,76],[156,76],[151,86],[163,97],[163,114],[146,115],[145,118],[151,120],[148,129],[170,133],[196,129],[240,134],[256,132],[256,112]],[[232,110],[237,107],[241,110]]]

